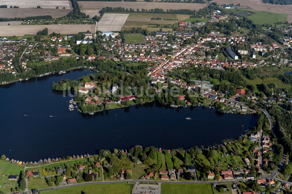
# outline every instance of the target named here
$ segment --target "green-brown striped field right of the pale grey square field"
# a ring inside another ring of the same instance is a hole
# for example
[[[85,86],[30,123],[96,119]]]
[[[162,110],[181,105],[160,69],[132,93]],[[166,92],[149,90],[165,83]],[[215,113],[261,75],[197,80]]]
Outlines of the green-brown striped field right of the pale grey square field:
[[[104,17],[104,16],[103,16]],[[171,19],[171,20],[152,20],[151,18]],[[131,30],[133,27],[141,27],[148,31],[172,31],[173,28],[156,27],[154,24],[163,26],[164,24],[174,25],[179,21],[190,18],[190,15],[183,14],[164,14],[164,13],[129,13],[129,16],[122,28],[122,30]],[[152,25],[150,25],[152,24]],[[151,27],[150,27],[151,26]]]

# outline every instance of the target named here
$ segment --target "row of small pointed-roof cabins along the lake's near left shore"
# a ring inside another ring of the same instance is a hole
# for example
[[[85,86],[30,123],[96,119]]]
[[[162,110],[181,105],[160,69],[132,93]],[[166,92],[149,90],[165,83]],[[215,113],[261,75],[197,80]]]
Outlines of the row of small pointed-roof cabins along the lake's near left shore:
[[[84,155],[73,155],[73,156],[69,156],[70,160],[75,160],[75,159],[82,159],[82,158],[89,158],[89,154],[84,154]],[[9,158],[6,158],[5,161],[7,162],[11,162],[13,164],[16,164],[16,165],[24,165],[24,166],[37,166],[37,165],[40,165],[40,164],[44,164],[44,163],[53,163],[53,162],[58,162],[58,161],[63,161],[63,160],[66,160],[65,158],[48,158],[48,159],[40,159],[39,161],[30,161],[30,162],[22,162],[22,161],[19,161],[19,160],[14,160],[14,159],[9,159]]]

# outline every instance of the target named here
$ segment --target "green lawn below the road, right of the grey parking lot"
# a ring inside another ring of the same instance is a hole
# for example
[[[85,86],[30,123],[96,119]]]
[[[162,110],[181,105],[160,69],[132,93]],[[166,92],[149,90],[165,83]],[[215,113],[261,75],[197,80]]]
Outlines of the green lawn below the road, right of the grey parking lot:
[[[162,183],[161,193],[200,193],[210,194],[212,192],[211,184],[171,184]]]

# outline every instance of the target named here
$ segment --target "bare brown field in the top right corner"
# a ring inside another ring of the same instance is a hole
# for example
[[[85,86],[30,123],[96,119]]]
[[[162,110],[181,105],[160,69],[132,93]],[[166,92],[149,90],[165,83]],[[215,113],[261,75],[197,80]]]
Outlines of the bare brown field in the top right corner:
[[[262,3],[261,0],[214,0],[214,2],[220,3],[220,5],[230,3],[236,5],[240,3],[253,10],[287,14],[287,21],[292,22],[292,5],[273,5],[270,3]]]

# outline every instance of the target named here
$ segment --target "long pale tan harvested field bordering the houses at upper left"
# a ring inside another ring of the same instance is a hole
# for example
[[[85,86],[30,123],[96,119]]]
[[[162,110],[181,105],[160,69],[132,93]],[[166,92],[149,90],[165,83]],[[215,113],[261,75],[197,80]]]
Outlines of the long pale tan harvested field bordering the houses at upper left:
[[[60,34],[74,34],[78,32],[95,32],[95,25],[79,25],[79,24],[64,24],[64,25],[15,25],[15,26],[1,26],[0,36],[23,36],[25,34],[36,34],[38,31],[48,28],[48,33],[53,32]]]

